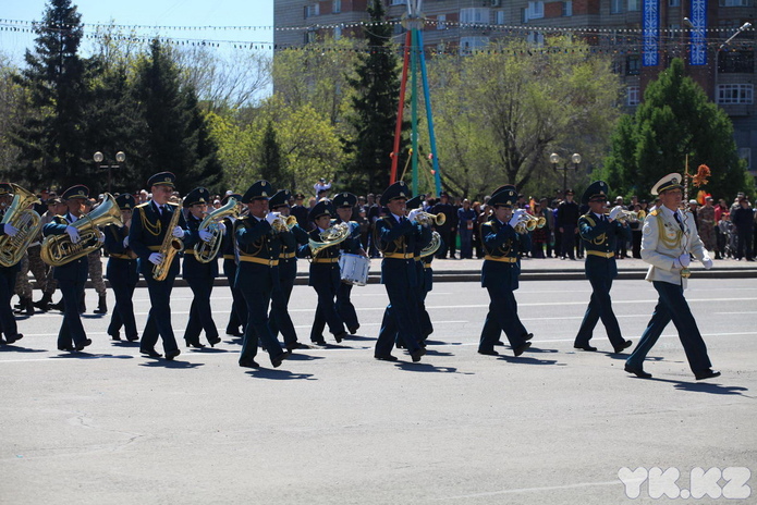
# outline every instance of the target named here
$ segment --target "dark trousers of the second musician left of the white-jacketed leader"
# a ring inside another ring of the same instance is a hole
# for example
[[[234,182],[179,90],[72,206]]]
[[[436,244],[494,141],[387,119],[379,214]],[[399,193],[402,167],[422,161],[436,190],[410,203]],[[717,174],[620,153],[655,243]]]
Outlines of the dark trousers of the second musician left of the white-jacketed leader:
[[[521,322],[521,318],[517,317],[515,295],[512,290],[503,286],[488,286],[487,290],[491,301],[489,303],[489,313],[486,315],[481,330],[478,350],[493,350],[502,332],[508,336],[513,348],[520,347],[526,342],[524,336],[528,332]]]

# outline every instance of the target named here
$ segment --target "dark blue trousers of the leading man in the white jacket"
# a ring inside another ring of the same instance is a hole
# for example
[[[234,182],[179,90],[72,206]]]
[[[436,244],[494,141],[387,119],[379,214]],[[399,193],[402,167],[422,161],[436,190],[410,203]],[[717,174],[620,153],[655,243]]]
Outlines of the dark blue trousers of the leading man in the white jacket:
[[[657,343],[668,323],[672,320],[679,331],[679,338],[686,352],[688,366],[694,373],[709,369],[710,358],[707,356],[707,346],[701,338],[692,310],[683,296],[683,286],[669,282],[652,281],[652,285],[659,295],[657,307],[651,315],[647,329],[642,334],[642,340],[631,354],[626,362],[635,368],[642,368],[647,353]]]

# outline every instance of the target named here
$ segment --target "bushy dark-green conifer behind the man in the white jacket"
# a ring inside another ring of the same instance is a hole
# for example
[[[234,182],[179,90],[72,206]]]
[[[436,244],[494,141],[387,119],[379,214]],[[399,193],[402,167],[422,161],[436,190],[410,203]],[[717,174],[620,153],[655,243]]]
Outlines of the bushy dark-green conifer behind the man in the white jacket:
[[[613,190],[647,196],[663,175],[683,173],[686,157],[692,175],[700,164],[710,168],[712,175],[701,189],[716,197],[754,188],[728,114],[685,76],[683,61],[675,59],[649,83],[636,113],[619,123],[603,174]],[[689,186],[691,195],[693,190]]]

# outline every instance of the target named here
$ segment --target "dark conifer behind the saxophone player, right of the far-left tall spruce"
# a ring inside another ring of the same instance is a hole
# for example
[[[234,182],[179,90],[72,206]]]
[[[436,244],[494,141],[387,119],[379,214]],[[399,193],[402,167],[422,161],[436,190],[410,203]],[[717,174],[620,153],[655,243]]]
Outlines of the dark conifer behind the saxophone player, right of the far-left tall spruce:
[[[147,126],[141,181],[168,170],[186,194],[197,186],[211,190],[222,181],[218,147],[192,86],[182,86],[170,50],[155,39],[137,64],[136,98]]]

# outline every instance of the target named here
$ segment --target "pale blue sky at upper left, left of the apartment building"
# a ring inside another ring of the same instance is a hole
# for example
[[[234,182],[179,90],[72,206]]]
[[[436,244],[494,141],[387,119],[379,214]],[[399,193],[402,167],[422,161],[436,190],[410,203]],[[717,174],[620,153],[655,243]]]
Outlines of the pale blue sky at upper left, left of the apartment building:
[[[273,42],[273,0],[73,0],[85,24],[142,25],[138,34],[145,37],[170,37],[185,44],[202,40],[245,42],[270,51]],[[28,28],[10,21],[40,21],[45,0],[0,0],[0,52],[21,63],[24,50],[33,47],[34,33],[12,28]],[[158,26],[195,27],[193,29],[157,28]],[[203,26],[247,26],[245,29],[208,29]],[[252,28],[255,26],[256,28]],[[220,44],[231,48],[232,44]],[[87,54],[86,41],[83,56]]]

